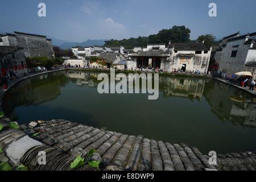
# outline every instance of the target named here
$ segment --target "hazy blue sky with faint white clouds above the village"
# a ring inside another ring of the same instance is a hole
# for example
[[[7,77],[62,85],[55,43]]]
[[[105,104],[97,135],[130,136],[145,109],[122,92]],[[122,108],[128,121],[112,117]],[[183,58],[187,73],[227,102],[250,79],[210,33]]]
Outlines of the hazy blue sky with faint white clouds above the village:
[[[38,4],[46,4],[46,17]],[[209,3],[217,16],[210,17]],[[1,0],[0,31],[21,31],[71,42],[124,39],[157,34],[184,25],[191,39],[213,34],[217,39],[237,31],[256,32],[255,0]]]

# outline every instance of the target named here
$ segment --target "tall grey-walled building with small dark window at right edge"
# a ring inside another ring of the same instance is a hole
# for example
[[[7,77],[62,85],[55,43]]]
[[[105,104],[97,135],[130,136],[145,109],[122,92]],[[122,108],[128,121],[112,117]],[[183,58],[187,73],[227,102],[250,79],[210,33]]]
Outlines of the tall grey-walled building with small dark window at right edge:
[[[239,32],[222,39],[214,59],[218,71],[234,74],[250,71],[256,78],[256,32],[240,36]]]

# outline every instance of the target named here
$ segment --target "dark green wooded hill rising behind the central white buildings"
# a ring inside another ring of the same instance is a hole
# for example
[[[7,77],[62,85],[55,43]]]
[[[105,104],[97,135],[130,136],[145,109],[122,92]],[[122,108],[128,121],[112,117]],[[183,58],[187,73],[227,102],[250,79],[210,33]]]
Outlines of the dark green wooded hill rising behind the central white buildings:
[[[144,47],[147,44],[168,44],[170,40],[175,43],[190,42],[191,30],[185,26],[173,26],[170,29],[163,29],[158,32],[158,34],[150,36],[139,36],[138,38],[130,38],[123,40],[108,40],[105,42],[106,47],[119,47],[125,46],[125,48],[130,49],[133,47]]]

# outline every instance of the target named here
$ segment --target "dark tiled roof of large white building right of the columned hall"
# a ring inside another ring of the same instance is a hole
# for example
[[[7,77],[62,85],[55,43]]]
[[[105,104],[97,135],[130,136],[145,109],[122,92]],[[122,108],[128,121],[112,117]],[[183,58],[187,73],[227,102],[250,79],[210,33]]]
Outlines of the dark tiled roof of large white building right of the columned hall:
[[[171,43],[170,48],[174,48],[174,51],[209,51],[210,49],[203,43]]]

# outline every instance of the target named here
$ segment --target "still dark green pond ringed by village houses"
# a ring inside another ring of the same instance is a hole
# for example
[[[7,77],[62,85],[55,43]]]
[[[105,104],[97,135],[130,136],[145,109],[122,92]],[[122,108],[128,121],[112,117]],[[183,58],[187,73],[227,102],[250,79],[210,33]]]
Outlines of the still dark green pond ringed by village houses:
[[[97,74],[60,71],[24,80],[3,98],[19,124],[67,119],[84,125],[187,143],[204,154],[256,150],[256,98],[211,79],[159,77],[159,98],[99,94]]]

